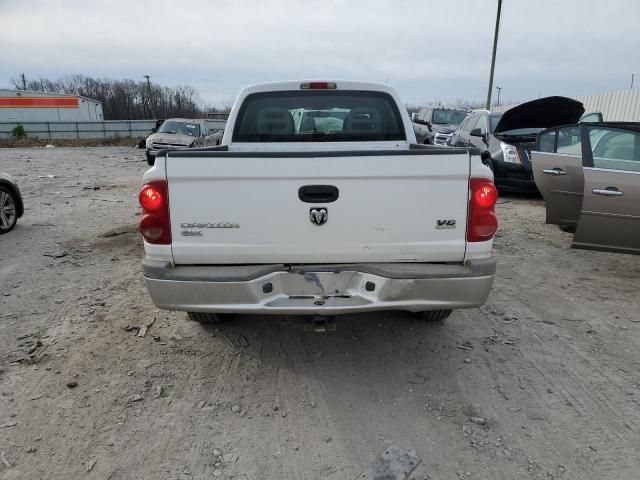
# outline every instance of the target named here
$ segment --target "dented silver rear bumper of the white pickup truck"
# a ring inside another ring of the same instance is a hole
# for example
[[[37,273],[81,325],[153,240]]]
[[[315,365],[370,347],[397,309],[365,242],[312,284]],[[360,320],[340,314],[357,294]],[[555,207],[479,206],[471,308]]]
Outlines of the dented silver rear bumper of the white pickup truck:
[[[465,265],[180,266],[143,261],[153,302],[167,310],[335,315],[448,310],[484,304],[494,258]]]

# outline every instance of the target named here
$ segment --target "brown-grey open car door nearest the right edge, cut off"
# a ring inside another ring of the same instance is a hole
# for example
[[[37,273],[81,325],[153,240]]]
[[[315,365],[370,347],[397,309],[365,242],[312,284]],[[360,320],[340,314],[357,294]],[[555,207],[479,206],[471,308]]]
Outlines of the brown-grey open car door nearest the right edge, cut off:
[[[584,199],[571,246],[640,254],[640,124],[583,131]]]

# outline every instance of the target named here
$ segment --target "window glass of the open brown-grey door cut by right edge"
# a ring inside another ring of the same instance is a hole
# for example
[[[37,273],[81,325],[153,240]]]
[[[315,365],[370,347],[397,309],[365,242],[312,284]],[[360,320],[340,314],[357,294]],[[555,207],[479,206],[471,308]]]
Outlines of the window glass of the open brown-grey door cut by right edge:
[[[589,140],[595,168],[640,172],[640,133],[592,127]]]

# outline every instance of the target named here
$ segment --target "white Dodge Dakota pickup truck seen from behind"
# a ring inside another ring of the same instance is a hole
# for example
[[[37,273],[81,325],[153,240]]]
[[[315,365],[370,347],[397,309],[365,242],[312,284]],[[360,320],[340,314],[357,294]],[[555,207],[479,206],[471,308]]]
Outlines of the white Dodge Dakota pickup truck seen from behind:
[[[482,305],[497,191],[474,151],[416,145],[396,92],[364,82],[245,88],[219,147],[158,152],[139,200],[153,302],[220,314]]]

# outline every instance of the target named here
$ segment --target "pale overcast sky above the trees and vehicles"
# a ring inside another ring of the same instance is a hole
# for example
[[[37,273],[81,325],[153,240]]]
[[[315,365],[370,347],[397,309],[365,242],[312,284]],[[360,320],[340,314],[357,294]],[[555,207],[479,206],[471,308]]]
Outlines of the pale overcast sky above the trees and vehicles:
[[[207,105],[251,83],[388,82],[406,103],[486,97],[497,0],[0,0],[0,86],[24,72],[192,85]],[[504,0],[504,100],[628,88],[640,0]],[[636,78],[640,87],[640,78]],[[495,95],[495,90],[494,90]]]

